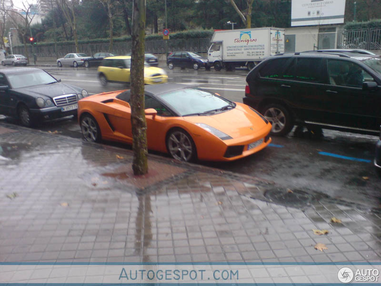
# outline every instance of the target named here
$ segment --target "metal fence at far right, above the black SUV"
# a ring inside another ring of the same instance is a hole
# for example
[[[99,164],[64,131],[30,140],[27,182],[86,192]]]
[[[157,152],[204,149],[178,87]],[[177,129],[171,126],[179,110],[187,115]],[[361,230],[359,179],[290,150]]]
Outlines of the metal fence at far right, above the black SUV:
[[[380,50],[381,28],[346,30],[338,48]]]

